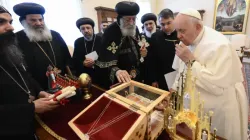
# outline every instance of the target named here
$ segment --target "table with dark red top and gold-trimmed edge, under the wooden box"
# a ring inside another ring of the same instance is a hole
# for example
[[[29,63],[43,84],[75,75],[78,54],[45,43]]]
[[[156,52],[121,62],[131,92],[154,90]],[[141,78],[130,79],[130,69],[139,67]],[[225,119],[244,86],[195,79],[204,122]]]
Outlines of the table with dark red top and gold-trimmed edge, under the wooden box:
[[[40,140],[79,140],[79,137],[69,127],[68,122],[87,107],[92,101],[105,92],[104,89],[92,85],[93,94],[90,100],[76,98],[65,106],[44,114],[36,115],[36,134]],[[166,131],[163,131],[157,140],[171,140]],[[218,140],[225,140],[218,137]]]

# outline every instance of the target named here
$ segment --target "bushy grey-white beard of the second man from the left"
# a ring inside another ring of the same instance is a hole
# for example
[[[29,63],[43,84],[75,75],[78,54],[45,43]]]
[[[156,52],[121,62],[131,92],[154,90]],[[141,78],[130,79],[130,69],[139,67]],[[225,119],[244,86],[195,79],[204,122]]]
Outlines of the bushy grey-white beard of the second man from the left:
[[[44,25],[44,29],[41,31],[31,27],[26,20],[23,20],[21,23],[24,27],[24,32],[31,42],[52,40],[51,32],[46,25]]]

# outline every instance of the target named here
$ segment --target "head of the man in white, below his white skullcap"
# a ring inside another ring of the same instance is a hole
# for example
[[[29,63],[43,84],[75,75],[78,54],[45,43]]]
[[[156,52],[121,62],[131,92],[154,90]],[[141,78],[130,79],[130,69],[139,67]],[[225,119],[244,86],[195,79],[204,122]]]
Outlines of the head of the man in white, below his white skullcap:
[[[174,21],[174,27],[178,33],[178,38],[185,44],[191,45],[202,31],[202,21],[186,13],[179,13]]]

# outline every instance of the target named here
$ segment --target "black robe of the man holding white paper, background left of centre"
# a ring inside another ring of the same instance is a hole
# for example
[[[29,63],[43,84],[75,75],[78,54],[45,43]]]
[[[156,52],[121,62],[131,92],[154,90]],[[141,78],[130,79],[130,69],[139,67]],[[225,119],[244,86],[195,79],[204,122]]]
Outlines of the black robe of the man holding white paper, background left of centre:
[[[86,46],[85,46],[86,44]],[[85,55],[96,51],[99,55],[101,47],[101,37],[94,35],[92,41],[86,41],[84,37],[80,37],[75,41],[75,49],[73,54],[73,64],[76,71],[76,76],[80,76],[82,73],[87,73],[96,83],[98,76],[96,74],[96,67],[88,68],[83,65],[83,61],[86,59]]]

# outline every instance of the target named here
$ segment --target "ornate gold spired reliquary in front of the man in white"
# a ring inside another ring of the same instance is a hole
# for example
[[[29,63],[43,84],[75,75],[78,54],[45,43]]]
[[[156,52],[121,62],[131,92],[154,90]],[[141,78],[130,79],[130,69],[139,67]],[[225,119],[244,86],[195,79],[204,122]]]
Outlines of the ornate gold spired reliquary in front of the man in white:
[[[177,92],[173,93],[169,105],[165,109],[165,128],[173,139],[184,140],[177,135],[177,126],[185,124],[192,130],[193,140],[210,140],[210,128],[213,112],[204,112],[204,100],[196,93],[196,77],[192,77],[191,62],[186,64],[186,72],[181,73]],[[185,73],[185,74],[184,74]],[[216,135],[216,133],[215,133]]]

